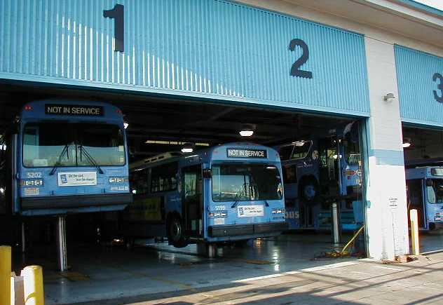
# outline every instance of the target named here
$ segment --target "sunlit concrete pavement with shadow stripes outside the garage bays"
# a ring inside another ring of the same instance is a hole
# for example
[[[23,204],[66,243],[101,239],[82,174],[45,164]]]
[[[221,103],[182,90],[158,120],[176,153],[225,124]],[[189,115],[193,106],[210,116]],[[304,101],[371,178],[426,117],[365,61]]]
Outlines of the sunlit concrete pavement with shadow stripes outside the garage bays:
[[[438,253],[406,264],[360,259],[100,304],[443,304],[442,283],[443,254]]]

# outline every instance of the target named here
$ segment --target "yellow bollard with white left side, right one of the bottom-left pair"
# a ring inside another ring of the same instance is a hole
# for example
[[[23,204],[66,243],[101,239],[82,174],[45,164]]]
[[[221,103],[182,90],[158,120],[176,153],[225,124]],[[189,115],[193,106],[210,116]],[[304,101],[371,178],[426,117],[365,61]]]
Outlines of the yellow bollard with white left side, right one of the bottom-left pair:
[[[43,269],[41,266],[26,266],[22,270],[25,305],[44,305]]]

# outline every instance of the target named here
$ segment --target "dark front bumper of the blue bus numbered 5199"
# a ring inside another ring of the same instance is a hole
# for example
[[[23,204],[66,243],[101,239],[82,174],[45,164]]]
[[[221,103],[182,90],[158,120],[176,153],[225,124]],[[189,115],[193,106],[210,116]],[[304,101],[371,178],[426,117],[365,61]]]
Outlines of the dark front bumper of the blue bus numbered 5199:
[[[260,224],[231,224],[227,226],[209,226],[210,237],[244,236],[263,233],[278,233],[287,230],[287,222],[263,222]]]

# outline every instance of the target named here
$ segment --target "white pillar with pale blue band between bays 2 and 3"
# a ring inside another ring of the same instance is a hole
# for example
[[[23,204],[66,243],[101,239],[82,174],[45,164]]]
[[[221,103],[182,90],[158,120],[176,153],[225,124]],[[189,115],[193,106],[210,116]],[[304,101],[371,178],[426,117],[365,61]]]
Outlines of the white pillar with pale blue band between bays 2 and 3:
[[[369,257],[394,259],[409,252],[402,123],[394,46],[365,37],[371,117],[367,121]],[[383,100],[393,93],[392,102]]]

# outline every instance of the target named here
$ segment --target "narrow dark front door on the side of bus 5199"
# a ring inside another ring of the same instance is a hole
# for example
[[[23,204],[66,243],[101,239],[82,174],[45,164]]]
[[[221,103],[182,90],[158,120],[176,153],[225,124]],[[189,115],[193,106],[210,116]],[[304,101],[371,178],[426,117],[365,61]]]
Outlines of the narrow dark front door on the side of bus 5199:
[[[182,168],[184,231],[203,236],[203,179],[201,164]]]

